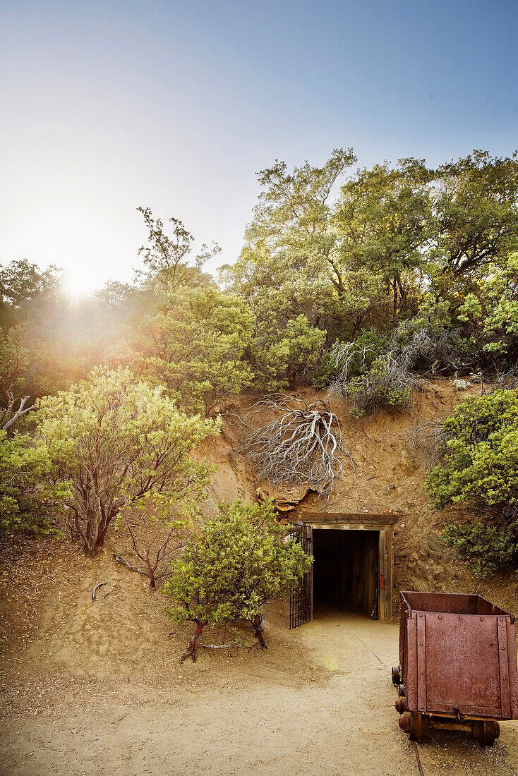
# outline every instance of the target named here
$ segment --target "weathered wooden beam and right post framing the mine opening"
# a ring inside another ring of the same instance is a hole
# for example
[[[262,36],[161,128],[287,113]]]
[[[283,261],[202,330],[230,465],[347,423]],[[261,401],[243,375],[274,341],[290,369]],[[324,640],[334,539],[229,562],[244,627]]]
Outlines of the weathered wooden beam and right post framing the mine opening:
[[[378,541],[378,619],[390,622],[394,618],[394,525],[398,514],[311,513],[300,520],[311,528],[332,531],[377,531]],[[312,618],[312,617],[311,617]]]

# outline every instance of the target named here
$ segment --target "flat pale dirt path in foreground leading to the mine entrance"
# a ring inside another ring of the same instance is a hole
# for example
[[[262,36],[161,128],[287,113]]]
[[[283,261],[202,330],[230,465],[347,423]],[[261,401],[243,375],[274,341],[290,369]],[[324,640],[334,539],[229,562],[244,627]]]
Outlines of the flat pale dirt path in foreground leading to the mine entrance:
[[[290,674],[287,666],[284,675],[247,680],[238,672],[235,683],[207,687],[200,682],[202,655],[182,669],[184,679],[192,678],[188,691],[184,684],[146,694],[142,685],[123,697],[99,694],[93,684],[78,695],[75,684],[57,682],[47,711],[5,721],[0,771],[413,776],[415,753],[398,729],[390,682],[397,635],[397,626],[359,615],[327,614],[304,625],[294,638],[325,681]],[[492,749],[437,733],[419,751],[425,776],[518,774],[518,725],[502,725]]]

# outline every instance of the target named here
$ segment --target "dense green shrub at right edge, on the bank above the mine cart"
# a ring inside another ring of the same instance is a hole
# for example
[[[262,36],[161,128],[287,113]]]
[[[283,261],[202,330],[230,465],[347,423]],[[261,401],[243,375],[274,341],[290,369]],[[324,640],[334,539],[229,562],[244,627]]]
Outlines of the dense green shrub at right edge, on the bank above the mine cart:
[[[453,521],[444,538],[479,571],[494,569],[498,559],[516,563],[518,393],[468,397],[444,422],[443,433],[443,460],[426,480],[430,501],[436,509],[464,504],[474,516]]]

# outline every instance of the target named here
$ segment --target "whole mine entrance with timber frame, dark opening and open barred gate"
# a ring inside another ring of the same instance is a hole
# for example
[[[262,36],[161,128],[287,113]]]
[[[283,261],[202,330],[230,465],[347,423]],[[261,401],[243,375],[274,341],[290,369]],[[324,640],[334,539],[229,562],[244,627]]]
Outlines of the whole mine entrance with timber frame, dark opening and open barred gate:
[[[395,514],[305,514],[291,525],[314,564],[290,596],[290,628],[318,607],[353,608],[380,620],[393,615]]]

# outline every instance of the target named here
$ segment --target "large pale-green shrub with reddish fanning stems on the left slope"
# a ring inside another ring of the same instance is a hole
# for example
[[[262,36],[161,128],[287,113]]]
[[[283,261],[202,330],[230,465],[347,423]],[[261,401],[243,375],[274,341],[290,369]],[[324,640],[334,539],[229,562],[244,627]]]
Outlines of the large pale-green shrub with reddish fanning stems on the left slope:
[[[71,528],[86,553],[103,546],[122,508],[153,493],[177,501],[204,480],[207,466],[188,453],[219,431],[218,421],[187,417],[162,386],[137,382],[128,369],[96,369],[88,382],[44,397],[37,421],[52,479],[70,483]]]

